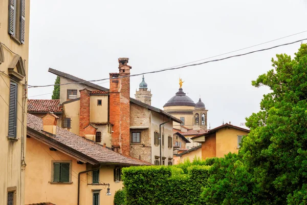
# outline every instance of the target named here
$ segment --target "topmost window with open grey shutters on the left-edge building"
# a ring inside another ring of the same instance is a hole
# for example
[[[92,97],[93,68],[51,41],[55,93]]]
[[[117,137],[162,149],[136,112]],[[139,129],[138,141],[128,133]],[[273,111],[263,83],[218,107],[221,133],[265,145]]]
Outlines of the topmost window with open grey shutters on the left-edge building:
[[[26,0],[9,1],[8,32],[19,43],[25,43],[25,8]]]

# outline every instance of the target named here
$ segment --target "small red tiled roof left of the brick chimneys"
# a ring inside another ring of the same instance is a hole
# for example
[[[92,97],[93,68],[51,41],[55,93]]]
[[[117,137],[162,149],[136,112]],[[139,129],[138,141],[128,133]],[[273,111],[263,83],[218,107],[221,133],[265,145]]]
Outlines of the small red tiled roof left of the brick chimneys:
[[[61,113],[62,106],[60,106],[59,99],[28,99],[28,112],[39,113]]]

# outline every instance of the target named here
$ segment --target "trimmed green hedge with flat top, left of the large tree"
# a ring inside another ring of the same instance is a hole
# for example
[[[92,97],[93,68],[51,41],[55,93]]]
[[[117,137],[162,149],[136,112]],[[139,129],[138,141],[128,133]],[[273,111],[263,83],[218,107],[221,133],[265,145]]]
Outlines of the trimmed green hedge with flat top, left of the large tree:
[[[126,204],[204,204],[209,166],[129,167],[122,170]]]

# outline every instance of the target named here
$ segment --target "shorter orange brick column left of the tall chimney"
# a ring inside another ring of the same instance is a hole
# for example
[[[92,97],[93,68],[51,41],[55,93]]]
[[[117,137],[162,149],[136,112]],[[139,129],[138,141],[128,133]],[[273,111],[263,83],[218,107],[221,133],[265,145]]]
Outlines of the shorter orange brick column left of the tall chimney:
[[[84,137],[84,128],[90,124],[90,90],[80,90],[79,135]]]

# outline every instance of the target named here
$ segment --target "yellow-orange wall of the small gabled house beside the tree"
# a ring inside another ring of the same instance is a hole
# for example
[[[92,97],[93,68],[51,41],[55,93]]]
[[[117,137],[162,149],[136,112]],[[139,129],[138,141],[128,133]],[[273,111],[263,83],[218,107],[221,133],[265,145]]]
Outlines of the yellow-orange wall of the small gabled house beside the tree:
[[[223,128],[216,132],[216,157],[224,157],[229,152],[237,153],[237,135],[247,135],[248,132],[233,128]]]

